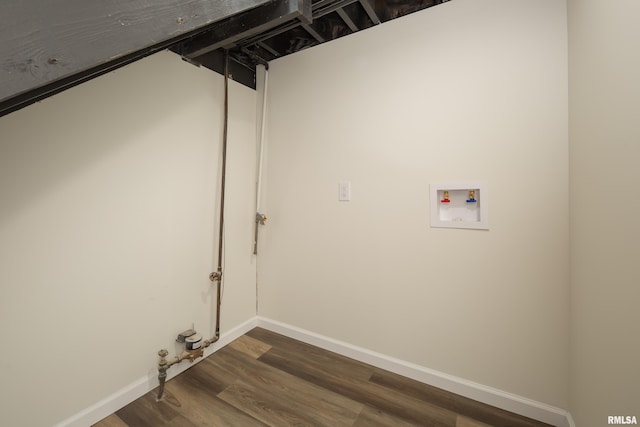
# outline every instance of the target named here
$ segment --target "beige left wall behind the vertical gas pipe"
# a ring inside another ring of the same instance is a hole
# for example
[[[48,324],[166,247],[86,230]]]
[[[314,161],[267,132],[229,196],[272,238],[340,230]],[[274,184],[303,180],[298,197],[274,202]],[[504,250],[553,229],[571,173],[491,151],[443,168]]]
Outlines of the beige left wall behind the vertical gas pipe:
[[[255,315],[255,92],[231,83],[222,328]],[[163,52],[0,118],[0,424],[52,425],[211,336],[222,77]]]

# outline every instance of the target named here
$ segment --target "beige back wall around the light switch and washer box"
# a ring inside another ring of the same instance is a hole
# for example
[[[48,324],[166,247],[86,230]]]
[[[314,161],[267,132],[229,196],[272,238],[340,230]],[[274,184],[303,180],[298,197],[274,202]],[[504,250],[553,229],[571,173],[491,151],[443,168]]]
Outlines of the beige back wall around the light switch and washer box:
[[[565,2],[449,2],[269,88],[259,314],[566,408]],[[430,228],[429,184],[475,179],[491,229]]]

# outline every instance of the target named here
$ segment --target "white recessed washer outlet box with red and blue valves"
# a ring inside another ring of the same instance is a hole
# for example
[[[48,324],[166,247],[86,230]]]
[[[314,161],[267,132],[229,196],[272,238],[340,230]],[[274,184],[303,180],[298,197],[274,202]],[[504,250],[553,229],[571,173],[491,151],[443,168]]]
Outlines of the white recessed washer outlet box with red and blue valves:
[[[473,204],[466,202],[470,190],[475,191]],[[449,191],[449,203],[441,202],[445,191]],[[485,181],[430,184],[429,193],[431,227],[489,229],[489,186]]]

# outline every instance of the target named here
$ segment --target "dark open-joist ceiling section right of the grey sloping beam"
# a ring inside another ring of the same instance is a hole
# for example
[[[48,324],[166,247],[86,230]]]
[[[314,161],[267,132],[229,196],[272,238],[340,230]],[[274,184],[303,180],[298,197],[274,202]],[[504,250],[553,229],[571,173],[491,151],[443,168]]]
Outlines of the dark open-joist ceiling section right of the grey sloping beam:
[[[257,64],[316,46],[449,0],[313,0],[310,10],[283,16],[286,0],[274,0],[231,17],[171,47],[186,61],[222,73],[224,51],[233,79],[255,88]],[[307,8],[308,9],[308,8]],[[265,28],[266,27],[266,28]]]

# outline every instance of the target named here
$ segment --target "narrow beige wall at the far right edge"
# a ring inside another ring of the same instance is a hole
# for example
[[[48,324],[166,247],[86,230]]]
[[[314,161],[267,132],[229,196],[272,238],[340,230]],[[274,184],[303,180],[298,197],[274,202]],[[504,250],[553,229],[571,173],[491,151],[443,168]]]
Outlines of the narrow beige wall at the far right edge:
[[[640,3],[569,1],[571,405],[640,418]]]

